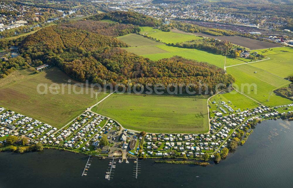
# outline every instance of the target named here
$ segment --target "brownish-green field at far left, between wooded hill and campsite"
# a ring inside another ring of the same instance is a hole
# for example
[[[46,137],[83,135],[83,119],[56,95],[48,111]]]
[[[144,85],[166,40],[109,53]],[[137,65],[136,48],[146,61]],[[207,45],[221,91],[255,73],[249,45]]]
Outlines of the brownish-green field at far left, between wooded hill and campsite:
[[[70,87],[72,94],[68,94],[68,86],[64,87],[64,94],[61,92],[39,94],[37,92],[39,83],[48,84],[48,90],[52,83],[57,83],[60,88],[61,83],[68,83],[70,77],[57,68],[39,74],[24,75],[19,80],[14,77],[17,75],[8,75],[4,80],[6,84],[2,84],[0,87],[0,106],[57,128],[61,128],[87,107],[96,103],[96,99],[90,98],[90,94],[73,94],[73,84],[76,83],[74,81],[71,81]],[[15,81],[10,82],[10,78]],[[53,92],[56,91],[54,88],[51,88]],[[79,88],[76,90],[79,91]],[[106,95],[100,93],[98,100]]]

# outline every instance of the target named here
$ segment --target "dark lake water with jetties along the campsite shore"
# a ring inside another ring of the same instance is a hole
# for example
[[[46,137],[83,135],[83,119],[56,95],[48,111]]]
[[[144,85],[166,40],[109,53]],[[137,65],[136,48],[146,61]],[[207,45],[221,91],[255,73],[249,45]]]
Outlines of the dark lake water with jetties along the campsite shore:
[[[108,159],[93,158],[81,177],[87,156],[47,149],[42,152],[0,153],[0,187],[292,187],[293,122],[258,124],[243,146],[219,164],[206,167],[141,161],[132,177],[133,160],[117,163],[106,180]],[[199,176],[199,177],[196,177]]]

